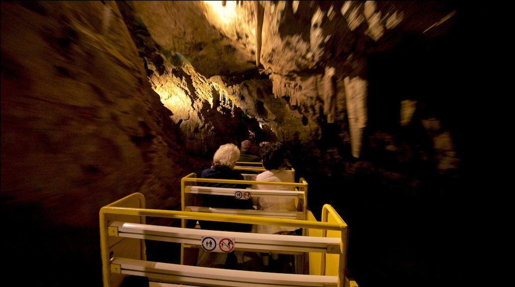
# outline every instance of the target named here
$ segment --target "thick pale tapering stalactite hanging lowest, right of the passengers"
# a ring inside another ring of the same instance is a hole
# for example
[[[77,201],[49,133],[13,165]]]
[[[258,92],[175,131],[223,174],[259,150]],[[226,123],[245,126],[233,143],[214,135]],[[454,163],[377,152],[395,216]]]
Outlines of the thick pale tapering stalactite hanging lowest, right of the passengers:
[[[359,77],[345,78],[347,116],[351,134],[352,156],[359,158],[363,140],[363,129],[367,126],[367,81]]]

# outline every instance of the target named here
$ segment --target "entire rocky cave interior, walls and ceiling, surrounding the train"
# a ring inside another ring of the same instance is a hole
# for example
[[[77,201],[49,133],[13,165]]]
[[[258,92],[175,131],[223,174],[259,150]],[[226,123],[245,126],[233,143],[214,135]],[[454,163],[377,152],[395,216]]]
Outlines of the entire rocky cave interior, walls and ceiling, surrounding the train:
[[[379,213],[436,221],[450,241],[458,232],[448,217],[461,192],[456,3],[1,5],[3,242],[6,272],[27,284],[101,285],[100,207],[142,192],[148,207],[180,208],[180,178],[249,133],[285,142],[317,194],[310,207],[330,203],[349,223],[348,266],[364,286],[413,260],[410,242],[433,241],[427,261],[447,251],[416,227],[375,241]],[[39,266],[30,276],[18,268],[28,264]],[[398,283],[459,285],[446,267]]]

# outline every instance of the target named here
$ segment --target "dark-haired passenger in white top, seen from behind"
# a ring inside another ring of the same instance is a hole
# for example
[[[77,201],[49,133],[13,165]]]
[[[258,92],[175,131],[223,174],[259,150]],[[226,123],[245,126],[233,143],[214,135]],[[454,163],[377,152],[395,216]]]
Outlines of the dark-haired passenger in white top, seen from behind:
[[[293,172],[284,168],[289,166],[284,156],[286,154],[286,147],[281,142],[271,142],[264,145],[261,149],[261,158],[263,160],[263,167],[265,171],[256,176],[256,181],[261,182],[295,182],[295,175]],[[258,189],[268,190],[295,190],[294,187],[288,186],[275,186],[275,185],[257,185]],[[266,196],[259,197],[254,200],[254,204],[260,210],[275,210],[275,211],[297,211],[295,200],[285,198],[268,198]],[[298,227],[289,226],[274,226],[274,225],[258,225],[256,232],[264,234],[298,234]],[[277,254],[272,254],[274,259],[277,259]],[[263,264],[268,265],[268,254],[263,254]]]

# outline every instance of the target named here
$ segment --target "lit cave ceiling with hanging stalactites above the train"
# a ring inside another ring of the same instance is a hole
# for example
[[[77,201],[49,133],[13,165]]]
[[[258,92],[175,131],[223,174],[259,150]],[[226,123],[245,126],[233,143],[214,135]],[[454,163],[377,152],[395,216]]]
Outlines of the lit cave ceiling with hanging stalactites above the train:
[[[323,124],[336,124],[337,140],[350,142],[354,157],[367,125],[398,125],[401,101],[414,105],[438,89],[413,92],[434,86],[423,79],[435,78],[439,66],[453,65],[460,16],[453,2],[427,1],[128,1],[118,7],[149,82],[193,151],[205,147],[199,141],[241,133],[243,117],[267,139],[283,141],[320,139]]]

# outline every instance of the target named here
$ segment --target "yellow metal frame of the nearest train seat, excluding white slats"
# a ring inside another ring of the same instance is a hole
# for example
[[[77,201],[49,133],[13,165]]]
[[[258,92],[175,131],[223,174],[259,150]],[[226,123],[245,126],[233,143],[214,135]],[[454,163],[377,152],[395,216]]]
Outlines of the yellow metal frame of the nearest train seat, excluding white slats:
[[[184,182],[182,183],[184,184]],[[338,260],[333,258],[323,258],[323,267],[321,261],[310,260],[308,268],[310,275],[338,276],[338,287],[357,286],[355,282],[350,282],[345,277],[345,267],[347,259],[348,231],[347,224],[339,217],[338,213],[330,206],[324,205],[322,210],[322,222],[314,219],[311,212],[308,220],[290,220],[276,218],[262,218],[255,216],[238,216],[229,214],[213,214],[190,211],[161,210],[145,208],[145,199],[141,193],[133,193],[125,198],[106,205],[100,209],[100,251],[102,261],[102,279],[104,287],[119,287],[124,278],[122,274],[117,274],[116,264],[110,264],[113,257],[124,257],[129,259],[146,260],[145,242],[142,239],[119,238],[114,234],[115,229],[109,228],[109,223],[113,221],[130,222],[145,224],[146,217],[162,217],[181,220],[208,220],[220,222],[233,222],[244,224],[263,224],[263,225],[279,225],[294,226],[309,230],[310,236],[321,237],[339,237],[341,239],[340,252],[337,254]],[[325,215],[324,215],[325,214]],[[317,234],[318,232],[318,234]],[[325,255],[325,254],[324,254]],[[330,254],[332,255],[332,254]],[[313,257],[314,258],[314,257]],[[322,257],[319,257],[322,258]],[[182,259],[181,259],[182,262]],[[313,265],[313,266],[311,266]],[[318,271],[314,271],[314,267],[320,266]],[[338,271],[333,271],[328,267],[337,266]],[[313,268],[312,268],[313,267]],[[313,271],[312,271],[313,270]]]

